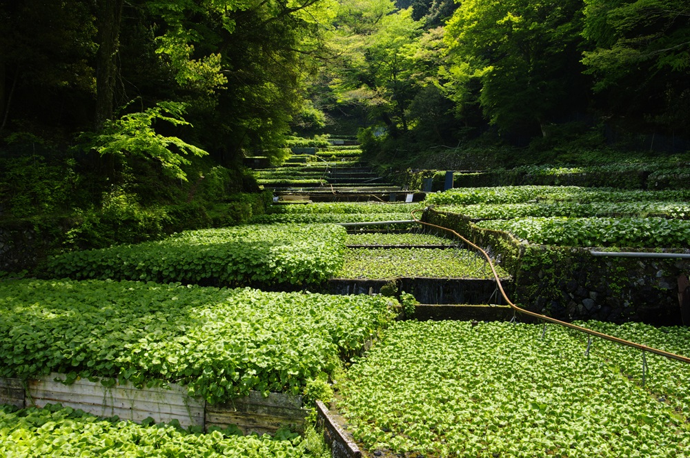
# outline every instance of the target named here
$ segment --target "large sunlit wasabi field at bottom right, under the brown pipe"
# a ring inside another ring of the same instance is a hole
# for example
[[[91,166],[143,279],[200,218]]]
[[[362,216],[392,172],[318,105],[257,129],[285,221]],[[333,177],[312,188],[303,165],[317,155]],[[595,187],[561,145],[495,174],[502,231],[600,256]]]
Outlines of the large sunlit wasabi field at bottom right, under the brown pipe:
[[[585,323],[690,355],[690,331]],[[395,323],[342,381],[339,407],[386,457],[687,457],[687,364],[557,326]],[[653,378],[653,381],[651,379]]]

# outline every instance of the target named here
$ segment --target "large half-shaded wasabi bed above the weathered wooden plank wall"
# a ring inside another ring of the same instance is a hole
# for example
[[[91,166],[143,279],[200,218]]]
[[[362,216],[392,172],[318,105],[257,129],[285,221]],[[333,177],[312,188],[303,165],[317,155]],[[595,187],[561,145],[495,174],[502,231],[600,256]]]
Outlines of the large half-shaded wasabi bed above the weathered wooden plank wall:
[[[183,384],[211,404],[302,394],[391,321],[384,297],[139,281],[0,283],[0,377]]]

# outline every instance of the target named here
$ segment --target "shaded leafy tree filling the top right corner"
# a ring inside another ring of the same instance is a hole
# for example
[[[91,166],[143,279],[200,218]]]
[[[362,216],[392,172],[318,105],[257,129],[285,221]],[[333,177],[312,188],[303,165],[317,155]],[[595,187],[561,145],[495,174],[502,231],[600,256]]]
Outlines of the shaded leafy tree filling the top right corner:
[[[586,73],[600,110],[690,134],[690,6],[683,0],[585,0]],[[645,122],[646,121],[646,122]]]

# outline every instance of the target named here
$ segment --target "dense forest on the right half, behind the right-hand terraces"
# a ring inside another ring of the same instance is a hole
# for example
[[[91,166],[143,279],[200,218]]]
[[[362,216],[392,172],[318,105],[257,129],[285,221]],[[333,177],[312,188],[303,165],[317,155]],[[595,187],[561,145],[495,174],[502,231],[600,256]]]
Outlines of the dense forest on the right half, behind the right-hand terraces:
[[[687,150],[686,2],[366,4],[337,19],[333,43],[344,51],[328,87],[335,101],[366,106],[392,150],[396,137]]]

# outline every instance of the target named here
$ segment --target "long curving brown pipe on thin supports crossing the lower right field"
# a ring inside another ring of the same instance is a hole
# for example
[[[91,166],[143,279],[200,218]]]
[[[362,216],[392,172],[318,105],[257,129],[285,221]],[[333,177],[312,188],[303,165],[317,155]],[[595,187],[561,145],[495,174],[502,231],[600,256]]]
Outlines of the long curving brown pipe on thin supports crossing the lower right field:
[[[412,211],[412,217],[415,218],[415,221],[417,221],[417,223],[424,224],[424,226],[431,226],[433,228],[446,230],[446,231],[450,232],[451,234],[455,235],[455,237],[457,237],[457,238],[461,239],[462,241],[464,241],[465,243],[467,243],[469,246],[475,248],[475,250],[482,253],[482,255],[484,255],[484,258],[486,259],[486,261],[489,262],[489,267],[491,268],[491,272],[493,272],[493,277],[496,279],[497,288],[500,290],[503,299],[506,300],[506,303],[508,303],[508,305],[511,306],[511,308],[513,308],[513,310],[516,310],[517,312],[523,313],[524,315],[527,315],[529,317],[534,317],[534,318],[542,319],[544,321],[549,321],[549,323],[554,323],[554,324],[558,324],[560,326],[564,326],[566,328],[578,330],[580,332],[584,332],[585,334],[589,334],[589,335],[592,335],[594,337],[600,337],[601,339],[615,342],[616,344],[622,344],[622,345],[629,346],[632,348],[639,348],[642,351],[648,351],[650,353],[654,353],[655,355],[660,355],[663,357],[667,357],[669,359],[676,359],[676,361],[682,361],[684,363],[690,363],[690,358],[688,358],[688,357],[676,355],[675,353],[667,352],[664,350],[659,350],[658,348],[648,347],[646,345],[638,344],[636,342],[631,342],[631,341],[627,341],[624,339],[620,339],[620,337],[614,337],[612,335],[604,334],[603,332],[598,332],[595,330],[582,328],[582,326],[578,326],[578,325],[573,324],[573,323],[568,323],[566,321],[561,321],[560,319],[547,317],[546,315],[541,315],[539,313],[530,312],[529,310],[525,310],[524,308],[520,308],[520,307],[516,306],[510,299],[508,299],[508,295],[506,295],[506,292],[503,289],[503,285],[501,284],[501,279],[498,277],[496,269],[493,266],[493,261],[491,260],[491,257],[489,257],[489,254],[486,251],[482,250],[482,248],[476,246],[474,243],[472,243],[468,239],[462,237],[462,235],[458,234],[457,232],[455,232],[452,229],[444,228],[443,226],[437,226],[435,224],[420,221],[419,219],[417,219],[417,217],[415,217],[415,212],[420,212],[420,211],[422,211],[422,210],[420,209],[420,210],[413,210]]]

